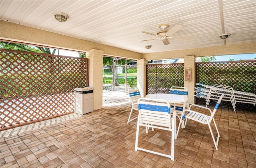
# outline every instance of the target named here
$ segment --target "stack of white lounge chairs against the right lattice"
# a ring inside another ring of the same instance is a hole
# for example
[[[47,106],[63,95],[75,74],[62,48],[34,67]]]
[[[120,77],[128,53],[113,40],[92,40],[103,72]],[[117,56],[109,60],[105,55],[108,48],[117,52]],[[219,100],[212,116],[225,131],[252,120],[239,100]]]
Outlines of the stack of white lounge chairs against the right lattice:
[[[206,99],[206,107],[209,105],[210,100],[218,100],[222,94],[224,94],[223,101],[230,101],[234,112],[236,112],[236,102],[256,104],[256,94],[240,92],[234,90],[230,86],[218,85],[215,84],[213,86],[206,84],[196,84],[195,94],[197,98],[205,98]]]

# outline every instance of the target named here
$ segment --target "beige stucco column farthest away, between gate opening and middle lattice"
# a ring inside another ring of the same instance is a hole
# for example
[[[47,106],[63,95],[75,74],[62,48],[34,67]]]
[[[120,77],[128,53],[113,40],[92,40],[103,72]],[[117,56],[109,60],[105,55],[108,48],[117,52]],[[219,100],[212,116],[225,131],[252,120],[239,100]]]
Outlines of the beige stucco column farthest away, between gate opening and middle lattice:
[[[140,59],[137,61],[137,64],[138,64],[137,87],[140,90],[140,94],[145,97],[146,95],[146,64],[148,64],[148,61],[145,59]]]

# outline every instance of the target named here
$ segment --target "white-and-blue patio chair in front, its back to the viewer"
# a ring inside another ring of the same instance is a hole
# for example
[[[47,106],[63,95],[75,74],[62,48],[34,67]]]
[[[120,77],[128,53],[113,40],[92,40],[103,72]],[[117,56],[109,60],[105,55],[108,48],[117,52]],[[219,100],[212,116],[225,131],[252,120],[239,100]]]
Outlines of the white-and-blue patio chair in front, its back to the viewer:
[[[176,119],[175,117],[171,117],[170,103],[163,99],[155,100],[150,98],[139,98],[138,109],[139,115],[136,130],[135,151],[142,150],[145,152],[158,154],[160,156],[165,156],[171,158],[171,160],[174,160],[174,136],[176,133]],[[176,115],[175,111],[173,115]],[[146,133],[148,133],[148,125],[150,124],[152,128],[168,130],[172,132],[170,155],[138,147],[140,126],[146,127]]]

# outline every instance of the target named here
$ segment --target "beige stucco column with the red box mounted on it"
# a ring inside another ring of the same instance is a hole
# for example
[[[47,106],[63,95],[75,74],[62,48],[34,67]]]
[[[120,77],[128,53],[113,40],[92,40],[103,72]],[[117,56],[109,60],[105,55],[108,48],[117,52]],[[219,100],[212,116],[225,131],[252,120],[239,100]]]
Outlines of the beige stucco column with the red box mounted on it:
[[[188,102],[189,104],[194,104],[195,98],[194,98],[194,87],[195,87],[195,62],[196,57],[195,56],[184,56],[184,71],[186,72],[186,68],[191,69],[191,81],[186,81],[186,76],[184,75],[184,87],[188,88]],[[185,73],[184,72],[184,73]]]

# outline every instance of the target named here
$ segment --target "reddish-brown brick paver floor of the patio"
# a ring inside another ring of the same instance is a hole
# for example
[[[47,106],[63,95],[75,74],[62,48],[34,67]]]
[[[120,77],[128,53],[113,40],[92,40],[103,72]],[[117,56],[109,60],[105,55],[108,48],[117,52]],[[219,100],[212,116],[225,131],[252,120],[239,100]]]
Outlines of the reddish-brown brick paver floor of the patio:
[[[218,150],[214,148],[207,126],[189,121],[175,140],[174,161],[171,161],[164,156],[134,151],[136,121],[127,124],[130,108],[130,103],[104,106],[92,113],[45,124],[41,128],[32,126],[34,129],[17,131],[9,136],[2,133],[0,166],[256,167],[256,112],[237,110],[234,113],[232,108],[220,106],[215,116],[221,136]],[[146,134],[144,128],[140,129],[139,146],[170,152],[170,132],[155,129]],[[216,135],[214,128],[213,131]]]

